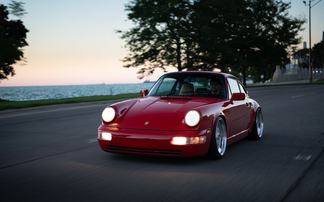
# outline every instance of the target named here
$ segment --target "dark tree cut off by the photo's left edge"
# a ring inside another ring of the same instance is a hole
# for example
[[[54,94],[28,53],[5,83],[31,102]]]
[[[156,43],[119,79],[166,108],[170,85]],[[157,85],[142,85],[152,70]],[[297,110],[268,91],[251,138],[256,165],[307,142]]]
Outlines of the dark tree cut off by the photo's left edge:
[[[12,1],[11,14],[22,17],[25,12],[23,3]],[[9,20],[9,11],[5,5],[0,5],[0,81],[8,79],[7,76],[15,75],[13,65],[24,59],[23,47],[26,42],[25,28],[21,20]]]

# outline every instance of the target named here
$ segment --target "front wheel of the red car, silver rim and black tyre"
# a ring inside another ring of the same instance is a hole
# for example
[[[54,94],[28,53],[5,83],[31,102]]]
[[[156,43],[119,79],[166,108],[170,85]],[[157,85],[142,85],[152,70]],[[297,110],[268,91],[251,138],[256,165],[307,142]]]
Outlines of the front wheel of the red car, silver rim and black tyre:
[[[212,159],[223,157],[226,149],[226,127],[222,117],[218,117],[210,140],[208,156]]]

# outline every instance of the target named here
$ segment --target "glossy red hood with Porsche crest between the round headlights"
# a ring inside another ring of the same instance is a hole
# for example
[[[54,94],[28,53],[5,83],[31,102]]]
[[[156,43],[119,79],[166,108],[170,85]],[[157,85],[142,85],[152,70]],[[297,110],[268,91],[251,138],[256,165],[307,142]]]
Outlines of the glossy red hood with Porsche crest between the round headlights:
[[[118,127],[173,130],[192,109],[215,100],[203,98],[146,97],[115,105],[119,109]],[[121,111],[120,111],[121,110]]]

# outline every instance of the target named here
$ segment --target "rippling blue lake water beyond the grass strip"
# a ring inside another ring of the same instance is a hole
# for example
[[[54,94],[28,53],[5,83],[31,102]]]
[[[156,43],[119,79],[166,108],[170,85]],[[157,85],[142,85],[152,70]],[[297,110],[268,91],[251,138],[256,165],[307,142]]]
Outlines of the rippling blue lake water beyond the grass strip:
[[[47,100],[93,95],[138,93],[151,89],[153,82],[132,84],[90,84],[66,86],[15,86],[0,87],[0,99],[10,101]]]

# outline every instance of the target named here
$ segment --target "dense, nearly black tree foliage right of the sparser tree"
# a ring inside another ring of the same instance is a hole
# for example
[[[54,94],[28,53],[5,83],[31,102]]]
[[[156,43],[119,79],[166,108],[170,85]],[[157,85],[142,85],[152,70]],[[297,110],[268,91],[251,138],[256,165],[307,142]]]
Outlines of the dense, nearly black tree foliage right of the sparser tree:
[[[301,41],[296,36],[305,19],[289,16],[289,3],[273,0],[230,0],[224,3],[214,0],[199,4],[203,4],[201,15],[205,13],[215,17],[206,21],[210,23],[206,27],[211,30],[207,33],[212,34],[204,44],[212,41],[213,36],[216,36],[217,44],[213,42],[209,46],[213,49],[207,49],[207,52],[217,56],[218,69],[243,77],[244,85],[247,74],[252,75],[255,82],[272,78],[276,65],[289,63],[291,46]],[[207,9],[212,13],[205,12]]]

